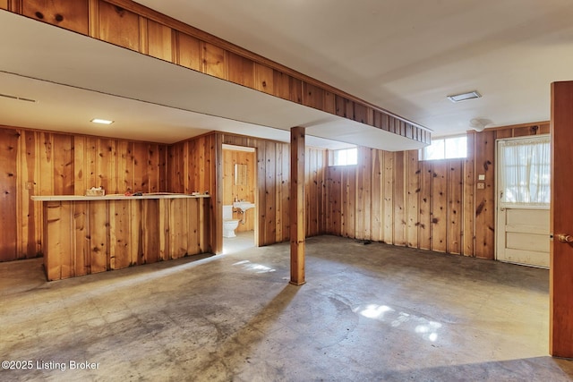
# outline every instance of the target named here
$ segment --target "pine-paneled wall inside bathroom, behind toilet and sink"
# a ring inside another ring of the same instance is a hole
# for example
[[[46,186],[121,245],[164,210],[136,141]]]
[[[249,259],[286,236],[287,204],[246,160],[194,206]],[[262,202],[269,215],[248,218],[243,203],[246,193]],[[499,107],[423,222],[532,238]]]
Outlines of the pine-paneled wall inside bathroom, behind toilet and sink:
[[[246,183],[235,184],[235,165],[246,166]],[[257,163],[254,152],[238,151],[233,149],[223,149],[223,205],[232,205],[233,201],[248,200],[254,202],[257,190]],[[234,212],[235,219],[242,219],[244,223],[239,224],[236,232],[254,230],[255,209],[250,209],[243,214]]]

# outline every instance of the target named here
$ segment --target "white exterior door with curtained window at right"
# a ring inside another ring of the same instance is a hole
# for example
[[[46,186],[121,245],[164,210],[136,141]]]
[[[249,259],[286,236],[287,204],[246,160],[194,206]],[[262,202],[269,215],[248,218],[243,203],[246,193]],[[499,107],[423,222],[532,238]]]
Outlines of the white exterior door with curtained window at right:
[[[498,140],[496,259],[549,267],[550,139]]]

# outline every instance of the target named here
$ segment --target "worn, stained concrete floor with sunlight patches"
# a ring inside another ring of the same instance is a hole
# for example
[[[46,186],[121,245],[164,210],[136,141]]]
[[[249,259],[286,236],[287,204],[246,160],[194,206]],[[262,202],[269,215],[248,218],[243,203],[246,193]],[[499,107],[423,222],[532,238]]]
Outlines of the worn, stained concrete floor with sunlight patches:
[[[288,243],[226,246],[51,283],[0,264],[0,359],[32,361],[0,380],[573,380],[547,270],[321,236],[297,287]]]

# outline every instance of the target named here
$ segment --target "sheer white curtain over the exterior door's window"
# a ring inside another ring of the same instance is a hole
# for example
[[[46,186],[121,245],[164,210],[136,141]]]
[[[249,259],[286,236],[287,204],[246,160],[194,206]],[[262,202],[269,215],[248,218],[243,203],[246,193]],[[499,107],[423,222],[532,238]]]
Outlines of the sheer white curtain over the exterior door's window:
[[[550,137],[500,141],[500,199],[521,206],[549,206]]]

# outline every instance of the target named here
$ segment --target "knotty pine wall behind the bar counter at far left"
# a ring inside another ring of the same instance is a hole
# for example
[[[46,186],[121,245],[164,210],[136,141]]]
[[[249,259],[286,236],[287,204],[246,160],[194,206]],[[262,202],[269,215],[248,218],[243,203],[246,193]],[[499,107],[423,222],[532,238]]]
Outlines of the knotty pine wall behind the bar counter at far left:
[[[0,261],[41,254],[41,204],[32,195],[166,188],[167,146],[0,127]]]

